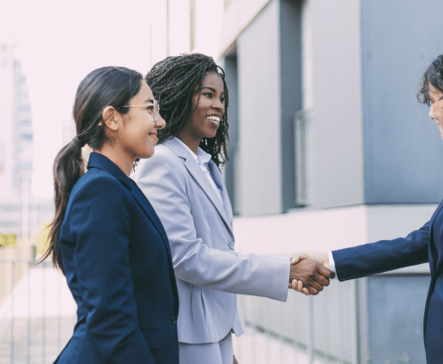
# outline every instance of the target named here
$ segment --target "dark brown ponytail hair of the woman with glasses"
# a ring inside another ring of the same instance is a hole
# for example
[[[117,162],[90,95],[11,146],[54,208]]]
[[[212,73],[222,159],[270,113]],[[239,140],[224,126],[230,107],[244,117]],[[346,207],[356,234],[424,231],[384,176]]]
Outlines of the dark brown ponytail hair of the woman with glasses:
[[[121,114],[129,112],[129,108],[123,106],[138,94],[142,79],[136,70],[103,67],[93,70],[80,82],[73,110],[77,136],[55,157],[55,216],[49,233],[49,247],[38,262],[52,254],[54,267],[64,273],[59,236],[72,187],[85,172],[81,146],[88,144],[93,149],[100,149],[104,143],[110,142],[101,124],[104,108],[113,106]]]

